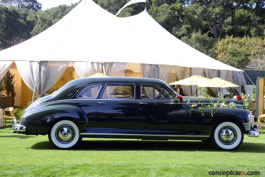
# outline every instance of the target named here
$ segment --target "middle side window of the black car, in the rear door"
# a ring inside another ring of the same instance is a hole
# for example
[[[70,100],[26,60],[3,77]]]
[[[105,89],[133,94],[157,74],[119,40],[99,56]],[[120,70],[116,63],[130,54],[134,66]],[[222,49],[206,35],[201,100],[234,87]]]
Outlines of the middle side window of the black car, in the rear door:
[[[101,98],[126,98],[134,99],[134,84],[106,84]]]

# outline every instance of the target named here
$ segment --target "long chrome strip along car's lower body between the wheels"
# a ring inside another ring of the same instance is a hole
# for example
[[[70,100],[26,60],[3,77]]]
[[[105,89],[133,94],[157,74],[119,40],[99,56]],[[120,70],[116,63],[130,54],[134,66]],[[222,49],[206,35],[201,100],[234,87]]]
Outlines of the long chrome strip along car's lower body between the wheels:
[[[153,135],[153,134],[128,134],[128,133],[80,133],[80,135],[124,135],[124,136],[210,137],[210,135]]]

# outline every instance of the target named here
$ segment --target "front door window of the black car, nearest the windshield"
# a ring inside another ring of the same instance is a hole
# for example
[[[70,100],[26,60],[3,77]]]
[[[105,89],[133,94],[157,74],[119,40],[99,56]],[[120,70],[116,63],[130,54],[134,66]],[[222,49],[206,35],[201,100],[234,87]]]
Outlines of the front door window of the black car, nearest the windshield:
[[[172,95],[169,90],[160,85],[143,84],[141,87],[141,97],[143,99],[169,99]]]

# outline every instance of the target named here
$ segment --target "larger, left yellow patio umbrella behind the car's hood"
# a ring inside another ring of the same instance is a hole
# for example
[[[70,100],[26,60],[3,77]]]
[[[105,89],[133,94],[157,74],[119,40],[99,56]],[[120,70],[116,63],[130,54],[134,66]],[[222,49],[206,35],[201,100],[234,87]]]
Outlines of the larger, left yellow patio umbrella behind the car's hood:
[[[197,96],[197,87],[214,87],[213,81],[211,79],[199,75],[194,75],[186,79],[170,83],[169,85],[196,85],[196,96]]]

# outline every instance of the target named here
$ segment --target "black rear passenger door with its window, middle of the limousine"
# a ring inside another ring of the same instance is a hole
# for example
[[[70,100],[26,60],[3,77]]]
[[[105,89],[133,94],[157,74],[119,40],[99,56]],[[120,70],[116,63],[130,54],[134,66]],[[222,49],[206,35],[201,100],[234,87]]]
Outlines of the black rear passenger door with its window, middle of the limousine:
[[[97,133],[136,133],[135,83],[107,83],[98,99]]]

